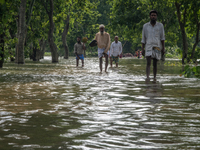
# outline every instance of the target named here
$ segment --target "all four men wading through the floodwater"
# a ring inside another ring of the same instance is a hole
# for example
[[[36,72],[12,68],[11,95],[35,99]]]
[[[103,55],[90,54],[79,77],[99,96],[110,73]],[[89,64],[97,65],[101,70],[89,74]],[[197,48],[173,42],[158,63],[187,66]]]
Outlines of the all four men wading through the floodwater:
[[[165,53],[165,32],[163,24],[157,22],[158,13],[156,10],[151,10],[149,13],[150,22],[143,25],[142,30],[142,55],[145,56],[146,76],[149,79],[151,60],[153,60],[153,74],[156,79],[157,62],[162,58]],[[118,67],[119,57],[122,54],[122,44],[115,36],[114,42],[110,45],[110,35],[105,32],[105,26],[99,26],[99,32],[95,36],[96,44],[98,47],[99,68],[102,73],[102,59],[105,57],[105,72],[108,67],[108,57],[110,57],[110,65],[112,62],[116,63]],[[82,67],[84,67],[84,50],[85,45],[81,42],[81,38],[77,38],[77,43],[74,45],[74,53],[76,54],[76,66],[79,64],[79,59],[82,60]]]

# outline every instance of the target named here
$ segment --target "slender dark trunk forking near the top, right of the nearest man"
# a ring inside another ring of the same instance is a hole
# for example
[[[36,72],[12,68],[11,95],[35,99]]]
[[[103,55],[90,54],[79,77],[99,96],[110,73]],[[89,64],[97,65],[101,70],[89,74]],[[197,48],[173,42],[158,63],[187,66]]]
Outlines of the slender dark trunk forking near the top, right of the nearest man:
[[[183,21],[181,21],[181,12],[180,12],[181,4],[175,2],[175,5],[176,5],[176,10],[177,10],[178,22],[179,22],[179,25],[181,28],[181,34],[182,34],[182,42],[183,42],[182,64],[184,64],[184,59],[187,58],[187,52],[188,52],[188,41],[187,41],[187,35],[185,32],[186,9],[183,14]]]

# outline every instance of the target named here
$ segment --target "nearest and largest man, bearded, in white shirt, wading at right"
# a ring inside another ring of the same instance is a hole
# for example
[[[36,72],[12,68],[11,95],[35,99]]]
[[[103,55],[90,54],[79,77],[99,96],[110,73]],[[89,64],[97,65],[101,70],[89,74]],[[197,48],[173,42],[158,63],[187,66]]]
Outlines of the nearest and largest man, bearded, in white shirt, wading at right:
[[[163,24],[156,22],[157,11],[149,13],[151,21],[143,25],[142,30],[142,55],[147,59],[146,75],[149,79],[151,59],[153,59],[153,75],[156,79],[157,62],[165,53],[165,32]],[[145,50],[144,50],[145,47]]]

